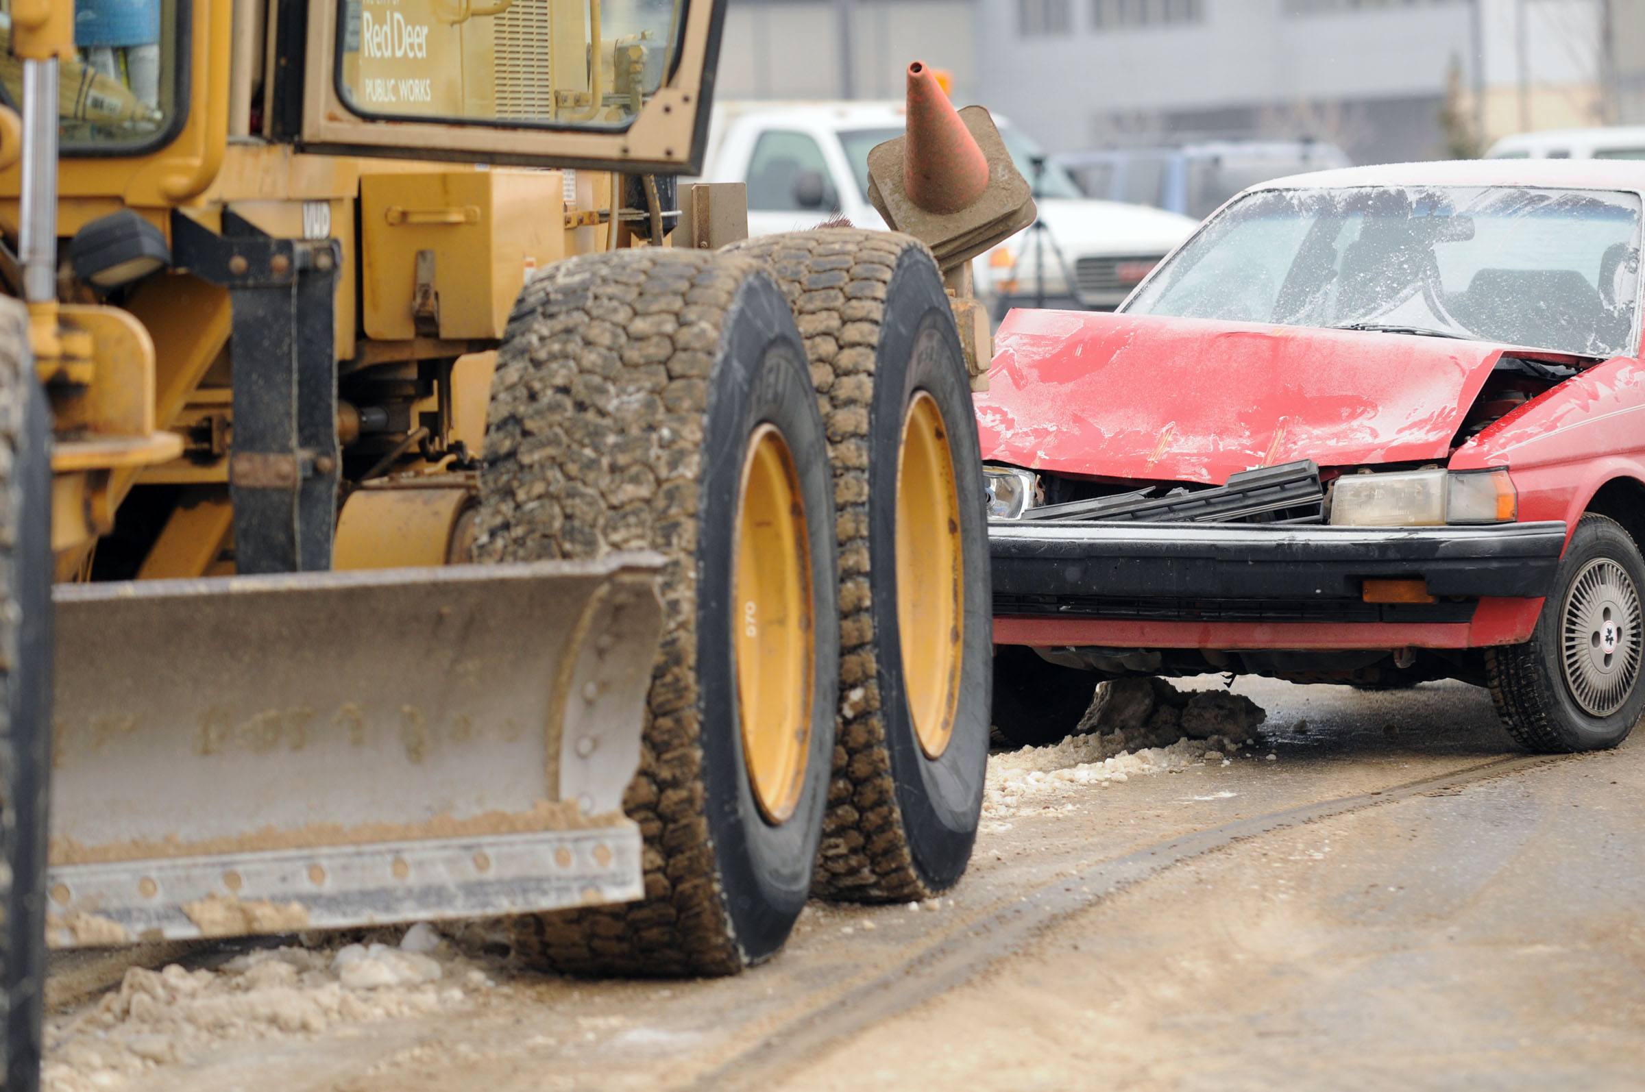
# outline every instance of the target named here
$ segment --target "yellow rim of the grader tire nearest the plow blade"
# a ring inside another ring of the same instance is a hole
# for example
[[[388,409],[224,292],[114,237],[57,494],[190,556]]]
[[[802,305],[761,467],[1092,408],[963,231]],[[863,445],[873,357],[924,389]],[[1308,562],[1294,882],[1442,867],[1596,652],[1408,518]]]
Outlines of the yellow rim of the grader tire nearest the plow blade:
[[[811,548],[788,442],[772,424],[748,441],[737,503],[735,656],[742,758],[768,822],[799,806],[811,750]]]

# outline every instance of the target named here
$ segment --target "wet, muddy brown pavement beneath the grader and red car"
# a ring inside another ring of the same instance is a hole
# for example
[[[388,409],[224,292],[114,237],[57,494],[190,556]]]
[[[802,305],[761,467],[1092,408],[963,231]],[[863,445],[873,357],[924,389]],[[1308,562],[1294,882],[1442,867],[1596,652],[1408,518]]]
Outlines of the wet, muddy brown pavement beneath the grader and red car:
[[[1638,1087],[1645,742],[1525,761],[1461,684],[1235,691],[1262,747],[1041,784],[951,896],[814,903],[739,979],[498,962],[438,1015],[125,1087]]]

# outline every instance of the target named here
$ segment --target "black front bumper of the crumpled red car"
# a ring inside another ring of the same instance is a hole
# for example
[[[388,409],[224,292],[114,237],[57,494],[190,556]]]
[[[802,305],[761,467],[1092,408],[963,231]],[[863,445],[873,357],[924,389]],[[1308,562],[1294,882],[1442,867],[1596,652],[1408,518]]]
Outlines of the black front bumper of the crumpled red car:
[[[999,617],[1466,622],[1480,595],[1548,595],[1564,539],[1561,521],[989,523]],[[1421,579],[1438,602],[1367,604],[1367,579]]]

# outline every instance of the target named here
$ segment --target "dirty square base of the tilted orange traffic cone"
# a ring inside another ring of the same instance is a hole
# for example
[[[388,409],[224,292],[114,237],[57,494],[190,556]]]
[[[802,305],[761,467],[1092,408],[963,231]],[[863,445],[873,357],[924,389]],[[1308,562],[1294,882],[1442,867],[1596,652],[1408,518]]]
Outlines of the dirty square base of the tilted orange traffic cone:
[[[869,151],[869,202],[893,232],[913,235],[929,247],[944,270],[977,257],[1035,219],[1033,191],[1012,163],[994,118],[982,107],[966,107],[959,117],[989,161],[989,187],[959,212],[928,212],[908,197],[903,186],[906,136]]]

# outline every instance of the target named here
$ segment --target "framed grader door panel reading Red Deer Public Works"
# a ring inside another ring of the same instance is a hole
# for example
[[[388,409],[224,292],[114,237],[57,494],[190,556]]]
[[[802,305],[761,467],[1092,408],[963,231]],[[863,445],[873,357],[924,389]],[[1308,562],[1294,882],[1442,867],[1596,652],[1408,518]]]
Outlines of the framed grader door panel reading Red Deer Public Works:
[[[316,7],[303,140],[354,155],[693,174],[722,18],[711,0]]]

